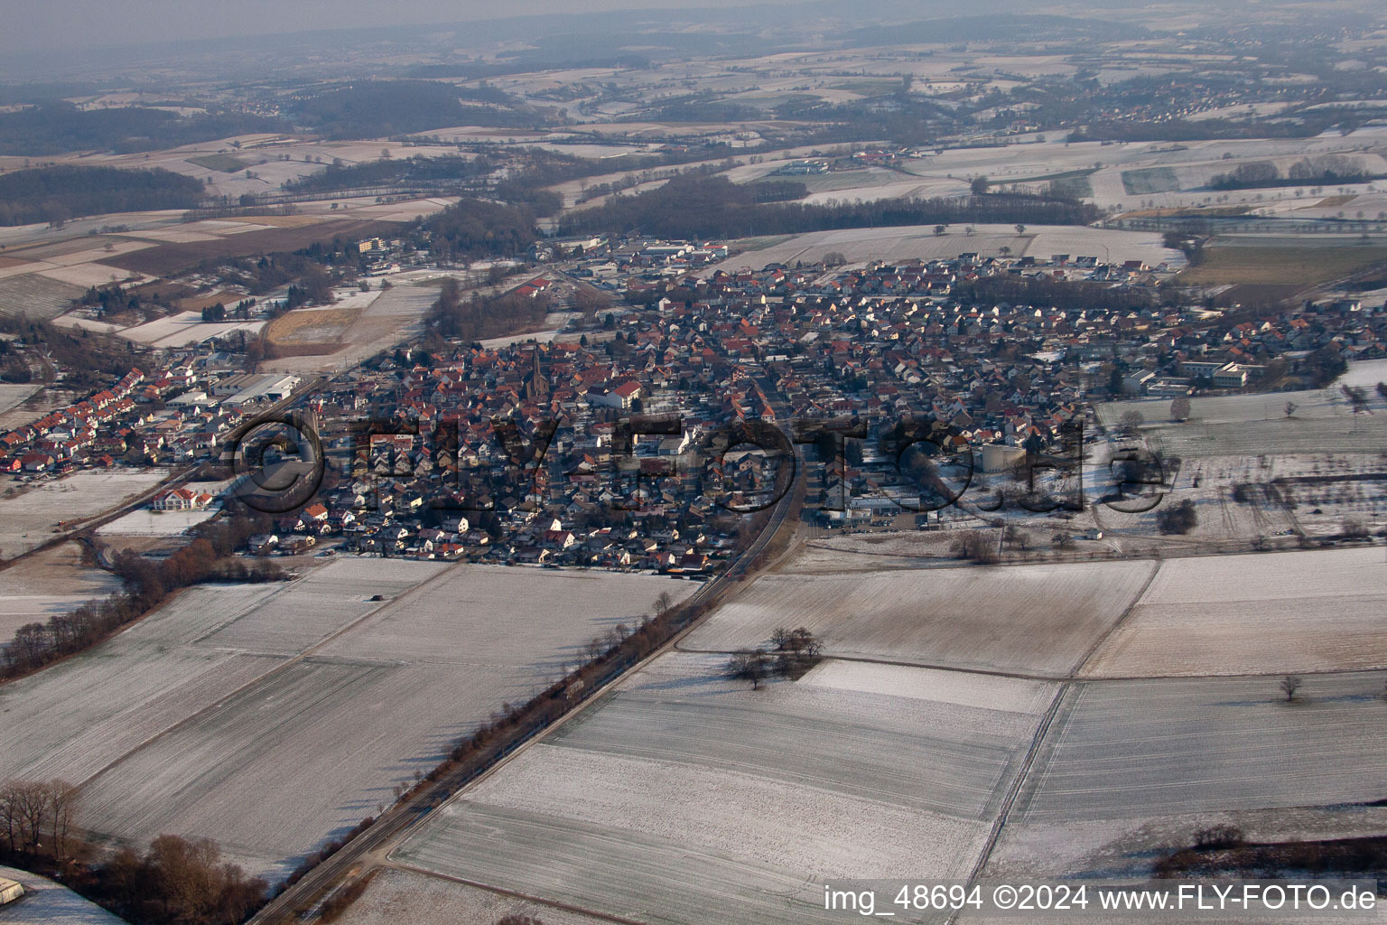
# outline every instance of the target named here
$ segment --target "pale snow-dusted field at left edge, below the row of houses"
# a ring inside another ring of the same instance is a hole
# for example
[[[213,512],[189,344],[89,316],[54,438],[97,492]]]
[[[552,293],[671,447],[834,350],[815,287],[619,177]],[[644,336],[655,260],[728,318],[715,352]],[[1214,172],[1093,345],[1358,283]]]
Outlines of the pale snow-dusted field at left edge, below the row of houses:
[[[0,499],[0,557],[12,559],[53,539],[60,521],[94,517],[157,485],[162,469],[83,470]]]

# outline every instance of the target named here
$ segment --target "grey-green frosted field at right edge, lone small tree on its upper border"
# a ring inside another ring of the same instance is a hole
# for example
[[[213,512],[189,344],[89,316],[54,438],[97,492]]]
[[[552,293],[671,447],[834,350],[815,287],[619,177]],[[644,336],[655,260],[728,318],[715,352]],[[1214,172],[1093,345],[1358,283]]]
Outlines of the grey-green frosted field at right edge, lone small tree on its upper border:
[[[1064,695],[1013,820],[1065,821],[1381,797],[1383,674],[1103,681]]]

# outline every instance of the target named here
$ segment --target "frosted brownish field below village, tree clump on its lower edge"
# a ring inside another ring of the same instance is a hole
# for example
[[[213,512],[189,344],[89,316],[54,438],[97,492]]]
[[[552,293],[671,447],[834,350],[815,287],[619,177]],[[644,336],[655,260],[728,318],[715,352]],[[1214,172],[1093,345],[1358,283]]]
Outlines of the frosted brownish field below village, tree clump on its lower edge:
[[[757,646],[804,625],[829,655],[1062,675],[1112,627],[1150,562],[766,574],[682,643]],[[1043,639],[1040,645],[1037,641]]]

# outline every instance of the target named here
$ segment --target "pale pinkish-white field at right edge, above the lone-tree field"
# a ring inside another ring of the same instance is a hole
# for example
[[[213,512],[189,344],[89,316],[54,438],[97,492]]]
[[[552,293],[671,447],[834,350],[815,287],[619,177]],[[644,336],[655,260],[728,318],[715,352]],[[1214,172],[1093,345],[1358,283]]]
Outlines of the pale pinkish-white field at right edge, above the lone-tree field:
[[[1169,559],[1086,677],[1387,667],[1380,549]]]

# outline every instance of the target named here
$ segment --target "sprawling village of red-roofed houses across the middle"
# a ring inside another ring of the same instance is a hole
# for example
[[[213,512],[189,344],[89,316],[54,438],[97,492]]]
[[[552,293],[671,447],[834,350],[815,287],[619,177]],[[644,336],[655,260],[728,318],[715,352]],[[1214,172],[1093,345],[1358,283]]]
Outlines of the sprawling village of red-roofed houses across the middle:
[[[981,473],[1004,473],[1026,449],[1056,447],[1093,399],[1258,388],[1326,348],[1387,354],[1387,309],[1355,300],[1232,323],[1155,300],[1119,309],[961,297],[988,279],[1130,294],[1169,277],[1139,261],[964,252],[710,272],[727,254],[717,243],[545,241],[534,257],[559,263],[512,291],[537,297],[563,275],[612,293],[609,311],[574,316],[552,343],[380,355],[309,394],[295,376],[241,372],[216,343],[148,354],[154,363],[110,388],[0,435],[0,472],[191,469],[286,404],[318,422],[331,465],[318,495],[251,537],[250,553],[320,546],[698,577],[728,560],[734,512],[775,481],[764,455],[707,451],[727,422],[859,419],[868,438],[836,459],[806,453],[803,477],[822,526],[865,526],[903,513],[890,498],[910,485],[874,451],[903,419],[946,424]],[[666,424],[631,434],[621,422],[632,415]],[[216,503],[172,488],[151,506]]]

